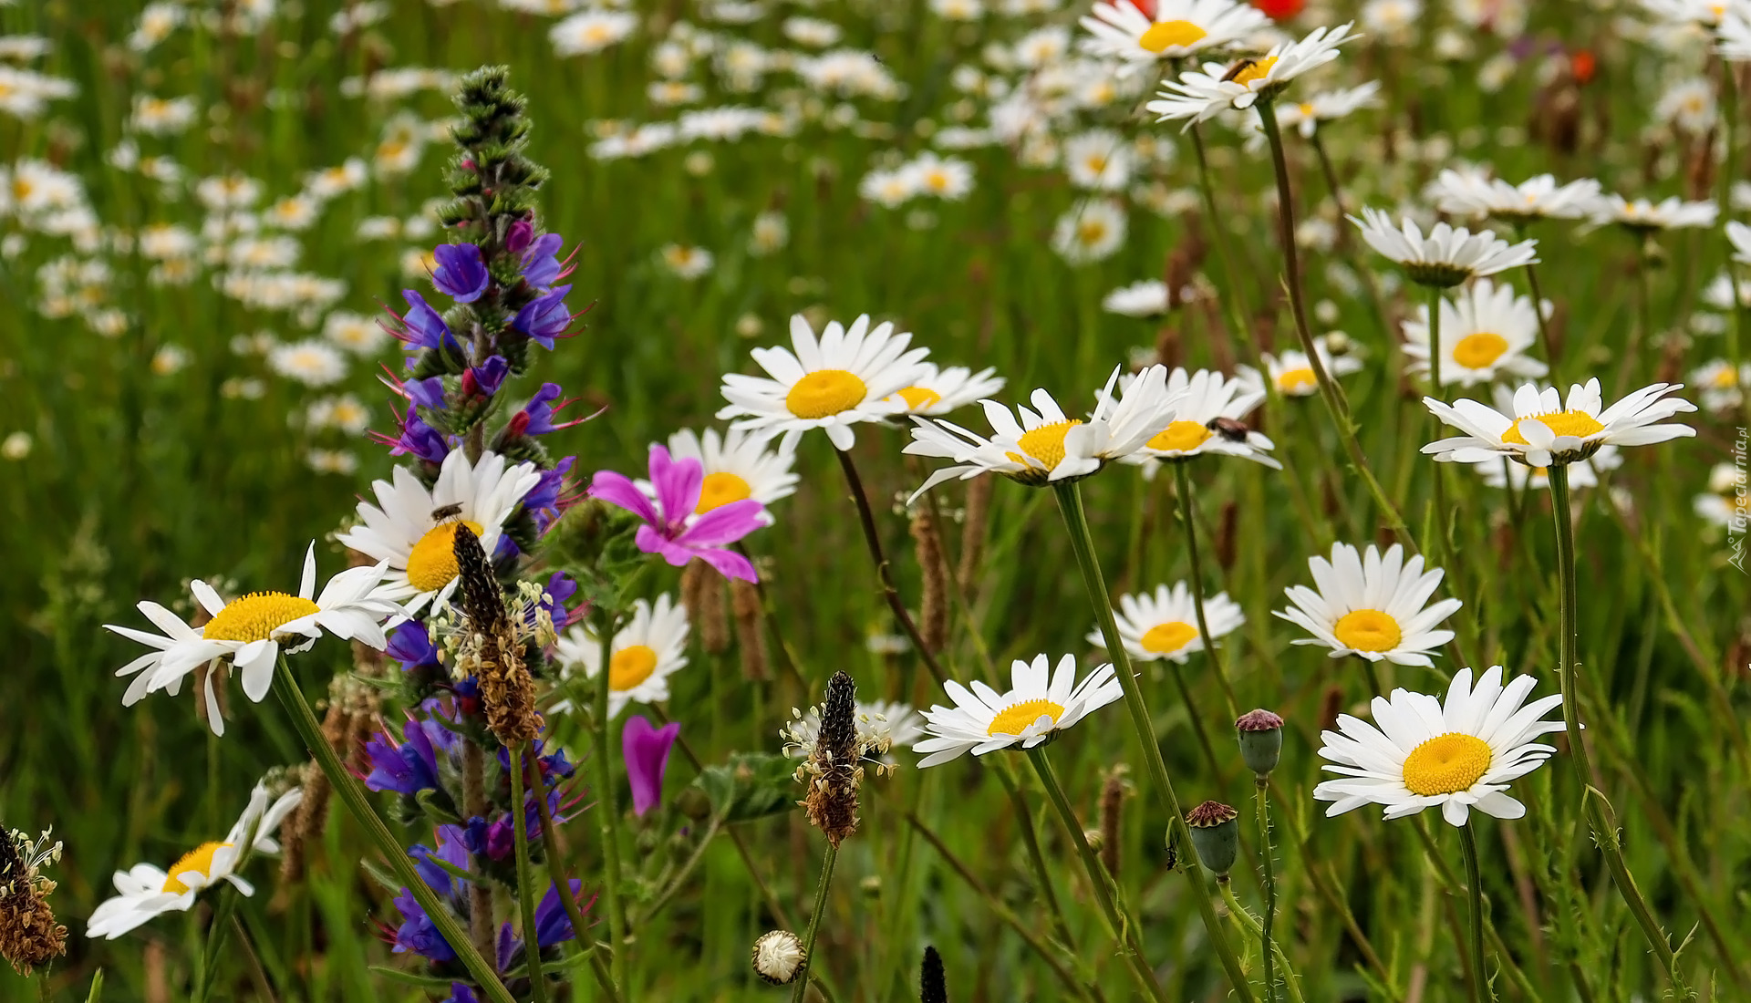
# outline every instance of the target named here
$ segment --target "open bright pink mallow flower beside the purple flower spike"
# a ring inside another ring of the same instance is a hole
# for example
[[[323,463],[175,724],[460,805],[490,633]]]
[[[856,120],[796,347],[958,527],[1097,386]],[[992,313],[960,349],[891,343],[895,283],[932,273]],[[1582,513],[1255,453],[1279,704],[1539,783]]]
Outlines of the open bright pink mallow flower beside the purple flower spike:
[[[742,499],[718,506],[688,523],[699,508],[699,492],[706,483],[706,469],[695,459],[671,459],[664,446],[651,446],[651,483],[657,487],[657,504],[644,497],[625,474],[597,471],[590,480],[590,497],[620,506],[644,520],[634,543],[644,553],[662,555],[674,567],[683,567],[695,557],[716,567],[725,578],[760,581],[755,565],[727,544],[765,525],[765,506]]]

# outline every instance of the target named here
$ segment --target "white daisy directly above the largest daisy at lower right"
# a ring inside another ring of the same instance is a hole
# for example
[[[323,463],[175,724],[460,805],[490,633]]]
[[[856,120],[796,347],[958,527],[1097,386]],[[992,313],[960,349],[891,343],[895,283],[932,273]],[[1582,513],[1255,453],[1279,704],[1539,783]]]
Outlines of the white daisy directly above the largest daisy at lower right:
[[[1294,607],[1271,611],[1313,635],[1297,637],[1296,644],[1324,644],[1333,658],[1361,655],[1369,662],[1432,665],[1429,653],[1453,639],[1452,630],[1436,625],[1460,602],[1443,599],[1425,607],[1445,572],[1439,567],[1425,572],[1422,555],[1404,560],[1399,544],[1382,555],[1375,544],[1357,551],[1334,543],[1331,560],[1311,557],[1308,569],[1319,590],[1290,585],[1285,595]]]

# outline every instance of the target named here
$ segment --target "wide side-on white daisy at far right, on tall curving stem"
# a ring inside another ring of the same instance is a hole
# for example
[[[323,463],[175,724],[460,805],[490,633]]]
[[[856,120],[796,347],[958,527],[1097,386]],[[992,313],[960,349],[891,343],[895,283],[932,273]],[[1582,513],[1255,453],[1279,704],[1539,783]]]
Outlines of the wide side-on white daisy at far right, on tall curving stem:
[[[1606,443],[1646,446],[1695,436],[1690,425],[1660,424],[1697,410],[1690,401],[1667,397],[1681,389],[1683,383],[1653,383],[1606,408],[1599,380],[1569,387],[1567,404],[1555,387],[1541,390],[1537,383],[1525,383],[1515,390],[1513,415],[1464,397],[1453,404],[1424,397],[1434,417],[1466,434],[1429,443],[1422,452],[1459,462],[1508,453],[1527,466],[1548,467],[1585,460]]]

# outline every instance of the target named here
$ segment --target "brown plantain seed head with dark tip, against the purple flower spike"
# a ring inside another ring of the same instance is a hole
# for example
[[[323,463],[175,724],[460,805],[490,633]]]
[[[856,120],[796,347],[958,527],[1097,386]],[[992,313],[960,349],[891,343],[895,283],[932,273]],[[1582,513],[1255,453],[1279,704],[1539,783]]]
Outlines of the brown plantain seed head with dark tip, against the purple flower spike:
[[[541,732],[536,684],[504,613],[504,593],[492,576],[492,562],[466,523],[455,530],[455,565],[462,579],[462,609],[468,613],[461,663],[480,681],[487,728],[506,746],[522,746]]]

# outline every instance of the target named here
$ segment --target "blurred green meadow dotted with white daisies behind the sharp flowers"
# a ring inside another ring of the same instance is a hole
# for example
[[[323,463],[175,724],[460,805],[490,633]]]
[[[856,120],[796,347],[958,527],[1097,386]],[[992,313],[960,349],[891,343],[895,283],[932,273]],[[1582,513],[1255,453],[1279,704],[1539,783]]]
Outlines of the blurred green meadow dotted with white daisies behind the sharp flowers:
[[[1271,0],[1268,12],[1294,37],[1350,19],[1364,32],[1297,93],[1380,82],[1368,107],[1320,123],[1317,145],[1296,130],[1287,138],[1315,329],[1333,357],[1357,362],[1343,383],[1362,448],[1446,569],[1441,595],[1464,600],[1448,623],[1457,646],[1434,669],[1383,665],[1382,684],[1441,691],[1457,648],[1480,670],[1502,663],[1555,691],[1548,492],[1502,490],[1459,467],[1438,504],[1434,464],[1418,453],[1438,436],[1399,334],[1424,292],[1361,242],[1338,196],[1348,212],[1432,222],[1424,187],[1473,165],[1508,180],[1550,172],[1630,198],[1712,200],[1721,217],[1742,217],[1751,189],[1728,173],[1751,161],[1733,151],[1747,135],[1728,100],[1735,65],[1711,54],[1705,28],[1627,2]],[[571,303],[594,306],[536,373],[581,397],[576,410],[604,408],[552,439],[585,476],[643,471],[650,443],[711,424],[721,375],[751,371],[749,348],[784,343],[793,313],[816,326],[893,320],[944,366],[995,368],[1009,380],[1000,399],[1045,387],[1066,408],[1093,406],[1119,364],[1233,373],[1254,348],[1292,348],[1271,163],[1252,119],[1203,126],[1212,217],[1191,137],[1142,110],[1157,70],[1119,75],[1080,54],[1084,14],[1054,0],[0,4],[0,821],[53,826],[63,840],[53,901],[74,929],[68,956],[35,980],[0,971],[0,998],[84,999],[98,970],[105,999],[187,996],[201,908],[116,942],[86,940],[82,921],[114,870],[175,859],[222,831],[259,775],[305,756],[273,704],[236,702],[245,709],[224,739],[187,693],[124,709],[114,669],[137,646],[103,625],[137,623],[140,599],[189,613],[191,578],[228,593],[287,581],[312,539],[324,569],[345,564],[333,532],[392,467],[366,438],[394,434],[378,376],[399,369],[399,347],[376,319],[403,287],[427,287],[429,252],[445,240],[434,205],[461,74],[510,67],[534,121],[529,156],[552,170],[539,219],[578,245]],[[1089,149],[1103,161],[1093,175]],[[925,163],[947,165],[946,187],[893,180],[919,158],[942,158]],[[1747,422],[1735,369],[1709,368],[1739,352],[1730,247],[1712,224],[1644,235],[1557,221],[1527,235],[1539,240],[1565,378],[1597,375],[1607,401],[1683,382],[1702,406],[1688,418],[1695,438],[1625,452],[1576,494],[1583,719],[1599,735],[1593,763],[1628,866],[1684,942],[1684,977],[1704,998],[1751,999],[1742,509],[1728,525]],[[1527,291],[1520,273],[1497,278]],[[1161,285],[1110,296],[1138,282]],[[1698,371],[1712,385],[1695,385]],[[1485,387],[1448,387],[1455,396],[1488,399]],[[954,420],[979,422],[972,410]],[[1359,662],[1292,646],[1301,632],[1271,616],[1283,588],[1310,581],[1310,555],[1390,534],[1317,399],[1273,396],[1248,424],[1275,439],[1285,469],[1208,460],[1191,481],[1203,588],[1227,592],[1247,618],[1222,642],[1238,704],[1287,719],[1280,942],[1306,999],[1466,999],[1466,901],[1438,873],[1457,866],[1452,833],[1432,826],[1425,847],[1376,810],[1322,817],[1310,796],[1319,732],[1340,711],[1366,714],[1375,690]],[[904,499],[933,464],[904,457],[905,441],[904,429],[867,425],[854,457],[900,593],[916,604]],[[720,623],[707,649],[695,623],[665,711],[706,763],[777,751],[790,709],[816,702],[837,669],[865,698],[944,702],[883,606],[835,467],[825,438],[804,438],[797,494],[748,541],[784,649],[734,623],[735,637],[723,641]],[[1115,592],[1191,576],[1171,481],[1114,467],[1086,485]],[[975,677],[986,658],[1042,651],[1103,662],[1047,492],[1000,481],[988,508],[974,506],[975,525],[968,490],[981,488],[935,492],[967,597],[944,660]],[[653,593],[676,588],[667,571],[648,579]],[[324,641],[296,670],[319,698],[350,665],[345,644]],[[1184,669],[1191,702],[1166,662],[1143,670],[1180,796],[1250,819],[1252,782],[1206,663]],[[1187,887],[1170,880],[1166,819],[1133,796],[1135,740],[1117,707],[1105,714],[1054,744],[1058,772],[1087,828],[1110,821],[1103,788],[1124,805],[1101,835],[1119,845],[1117,884],[1170,996],[1220,999],[1227,984]],[[557,728],[585,747],[578,723]],[[1063,998],[993,907],[1045,929],[1016,805],[972,760],[921,772],[912,753],[895,756],[893,777],[865,784],[863,830],[828,900],[818,964],[837,999],[916,998],[926,943],[942,952],[953,999]],[[695,849],[679,796],[695,774],[678,754],[665,807],[627,816],[634,900],[653,900]],[[1126,998],[1075,852],[1023,786],[1044,852],[1061,863],[1073,952],[1108,998]],[[1504,973],[1497,991],[1658,998],[1660,966],[1609,893],[1567,768],[1520,788],[1530,814],[1480,828],[1492,922],[1522,975]],[[587,887],[601,875],[590,812],[615,800],[625,791],[590,791],[571,840]],[[790,917],[807,915],[818,847],[800,812],[737,828]],[[282,887],[273,865],[257,866],[259,891],[238,908],[273,998],[429,998],[368,968],[397,964],[376,938],[390,894],[357,866],[368,854],[354,821],[333,812],[299,882]],[[1255,854],[1248,835],[1243,859]],[[1234,887],[1257,907],[1252,868],[1236,870]],[[639,996],[786,992],[748,964],[753,940],[779,922],[735,845],[711,842],[664,905],[636,931]],[[1578,922],[1558,929],[1555,912]],[[221,999],[268,998],[242,963],[222,978]]]

